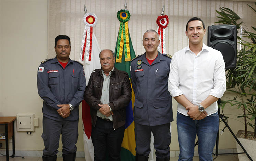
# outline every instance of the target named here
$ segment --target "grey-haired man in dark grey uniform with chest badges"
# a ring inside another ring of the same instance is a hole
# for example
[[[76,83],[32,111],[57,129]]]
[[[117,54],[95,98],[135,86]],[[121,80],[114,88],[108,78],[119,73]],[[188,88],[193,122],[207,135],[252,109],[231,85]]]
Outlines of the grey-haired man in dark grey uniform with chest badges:
[[[148,160],[151,132],[156,160],[170,160],[172,98],[168,92],[171,56],[157,51],[155,30],[143,35],[145,54],[131,61],[131,83],[135,94],[134,121],[136,160]]]

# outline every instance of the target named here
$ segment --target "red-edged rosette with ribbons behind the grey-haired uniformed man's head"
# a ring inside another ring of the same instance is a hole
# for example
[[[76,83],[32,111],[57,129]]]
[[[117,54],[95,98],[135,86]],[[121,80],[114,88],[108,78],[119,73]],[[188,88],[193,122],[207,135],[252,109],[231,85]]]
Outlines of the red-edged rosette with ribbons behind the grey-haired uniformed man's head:
[[[157,31],[160,39],[160,44],[158,46],[158,51],[160,51],[162,54],[166,54],[166,48],[165,48],[165,28],[169,24],[169,18],[167,15],[158,16],[156,19],[156,23],[158,24]]]

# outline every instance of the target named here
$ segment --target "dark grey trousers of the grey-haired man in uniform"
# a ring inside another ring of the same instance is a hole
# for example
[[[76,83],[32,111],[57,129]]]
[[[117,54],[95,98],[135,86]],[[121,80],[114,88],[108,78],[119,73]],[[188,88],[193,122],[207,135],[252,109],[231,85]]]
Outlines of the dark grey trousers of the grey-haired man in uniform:
[[[154,148],[157,158],[170,158],[171,132],[170,123],[146,126],[135,122],[136,155],[148,157],[150,153],[151,132],[154,135]]]

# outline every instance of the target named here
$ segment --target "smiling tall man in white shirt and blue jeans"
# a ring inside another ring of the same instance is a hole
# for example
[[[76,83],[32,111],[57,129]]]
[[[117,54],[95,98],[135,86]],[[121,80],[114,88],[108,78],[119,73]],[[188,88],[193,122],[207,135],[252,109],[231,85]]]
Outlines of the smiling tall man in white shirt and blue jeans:
[[[212,160],[219,129],[217,100],[226,90],[225,63],[221,52],[203,43],[206,29],[200,18],[186,25],[189,46],[174,53],[168,90],[178,102],[179,160],[192,160],[198,136],[199,160]]]

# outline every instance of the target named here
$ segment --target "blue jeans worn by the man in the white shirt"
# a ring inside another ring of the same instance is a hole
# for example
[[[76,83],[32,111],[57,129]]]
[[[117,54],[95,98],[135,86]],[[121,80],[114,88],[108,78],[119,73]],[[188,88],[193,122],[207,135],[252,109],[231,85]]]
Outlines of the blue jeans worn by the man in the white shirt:
[[[219,130],[219,115],[214,113],[202,120],[192,120],[177,112],[179,139],[179,161],[192,161],[196,135],[198,137],[199,160],[212,160],[212,152]]]

